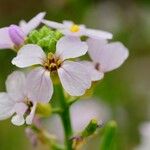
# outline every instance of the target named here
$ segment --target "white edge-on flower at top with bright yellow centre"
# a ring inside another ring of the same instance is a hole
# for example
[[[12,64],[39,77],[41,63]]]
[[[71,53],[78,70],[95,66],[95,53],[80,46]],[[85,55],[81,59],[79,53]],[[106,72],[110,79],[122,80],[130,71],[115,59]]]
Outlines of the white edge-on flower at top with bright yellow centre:
[[[43,20],[42,22],[51,28],[60,30],[64,35],[88,36],[94,39],[112,39],[112,34],[109,32],[88,29],[85,25],[76,25],[71,21],[63,21],[62,24],[48,20]]]

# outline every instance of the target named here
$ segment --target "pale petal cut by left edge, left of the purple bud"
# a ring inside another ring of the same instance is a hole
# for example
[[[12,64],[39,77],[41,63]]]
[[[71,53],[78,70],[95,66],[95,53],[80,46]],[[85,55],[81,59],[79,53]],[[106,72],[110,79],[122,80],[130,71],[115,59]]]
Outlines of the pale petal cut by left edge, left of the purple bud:
[[[8,28],[1,28],[0,29],[0,49],[5,48],[13,48],[13,42],[11,41],[8,33]]]

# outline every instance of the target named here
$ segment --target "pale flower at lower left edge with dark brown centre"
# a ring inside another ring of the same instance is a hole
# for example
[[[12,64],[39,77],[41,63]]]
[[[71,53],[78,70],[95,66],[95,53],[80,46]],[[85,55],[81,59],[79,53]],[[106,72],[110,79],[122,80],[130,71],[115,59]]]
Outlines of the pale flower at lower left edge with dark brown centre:
[[[8,76],[7,92],[0,93],[0,120],[15,114],[11,119],[14,125],[20,126],[25,122],[26,124],[32,123],[37,102],[48,102],[49,100],[41,98],[40,93],[35,96],[36,99],[31,98],[32,90],[29,90],[28,86],[30,86],[30,79],[21,71],[14,71]]]

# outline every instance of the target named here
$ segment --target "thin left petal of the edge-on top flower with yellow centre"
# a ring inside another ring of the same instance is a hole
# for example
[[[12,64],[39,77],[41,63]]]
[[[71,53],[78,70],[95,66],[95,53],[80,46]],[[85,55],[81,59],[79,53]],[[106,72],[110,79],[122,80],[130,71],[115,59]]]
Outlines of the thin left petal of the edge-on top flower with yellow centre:
[[[65,26],[62,23],[54,22],[54,21],[49,21],[49,20],[43,20],[42,21],[45,25],[54,28],[54,29],[62,29],[65,28]]]

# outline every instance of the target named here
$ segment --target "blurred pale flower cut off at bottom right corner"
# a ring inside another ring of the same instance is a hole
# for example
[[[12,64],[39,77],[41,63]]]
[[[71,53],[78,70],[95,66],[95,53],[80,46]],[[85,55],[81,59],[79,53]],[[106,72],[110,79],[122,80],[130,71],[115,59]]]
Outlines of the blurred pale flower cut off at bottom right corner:
[[[140,127],[141,144],[135,150],[150,149],[150,122],[143,123]]]

